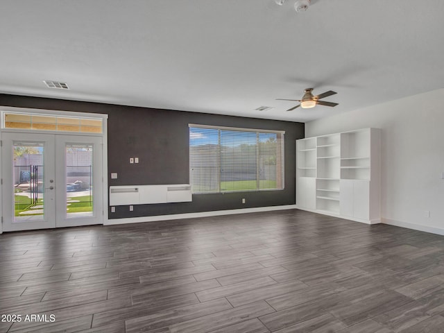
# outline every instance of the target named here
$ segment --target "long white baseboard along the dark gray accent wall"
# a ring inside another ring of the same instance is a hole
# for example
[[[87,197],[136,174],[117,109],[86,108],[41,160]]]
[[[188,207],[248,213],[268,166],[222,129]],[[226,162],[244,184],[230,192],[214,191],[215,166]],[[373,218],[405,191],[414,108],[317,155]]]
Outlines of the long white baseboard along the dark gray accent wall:
[[[213,212],[197,212],[197,213],[171,214],[171,215],[158,215],[158,216],[142,216],[142,217],[131,217],[128,219],[108,219],[107,221],[105,221],[105,223],[103,223],[103,225],[168,221],[168,220],[179,220],[179,219],[193,219],[196,217],[210,217],[210,216],[245,214],[245,213],[255,213],[255,212],[271,212],[273,210],[293,210],[295,208],[296,208],[296,205],[283,205],[283,206],[244,208],[241,210],[216,210]]]

